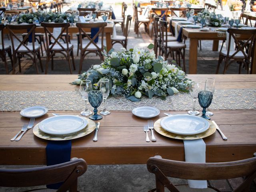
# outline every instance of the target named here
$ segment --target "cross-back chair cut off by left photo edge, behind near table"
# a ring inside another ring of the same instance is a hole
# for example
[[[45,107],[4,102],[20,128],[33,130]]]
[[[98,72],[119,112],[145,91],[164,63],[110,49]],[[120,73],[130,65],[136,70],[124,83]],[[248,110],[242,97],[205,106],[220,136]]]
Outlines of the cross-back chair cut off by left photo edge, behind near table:
[[[3,32],[4,28],[5,28],[5,25],[0,24],[0,33],[1,33],[1,41],[2,41],[2,46],[0,47],[0,58],[4,62],[4,65],[6,68],[6,74],[9,74],[8,65],[7,65],[7,61],[6,61],[6,54],[8,54],[8,56],[10,57],[11,64],[13,67],[12,48],[11,48],[11,46],[6,46],[6,47],[4,46],[4,32]]]

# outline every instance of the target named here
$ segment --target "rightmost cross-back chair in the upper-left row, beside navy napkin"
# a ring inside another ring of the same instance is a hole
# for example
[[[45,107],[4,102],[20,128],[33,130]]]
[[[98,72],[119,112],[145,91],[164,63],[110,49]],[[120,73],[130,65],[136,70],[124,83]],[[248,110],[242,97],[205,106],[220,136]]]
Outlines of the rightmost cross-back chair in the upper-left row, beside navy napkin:
[[[89,53],[95,53],[96,55],[100,56],[101,60],[104,60],[104,56],[102,55],[102,51],[104,49],[103,46],[103,40],[104,40],[104,28],[107,26],[106,22],[101,23],[76,23],[76,26],[79,30],[79,39],[80,39],[80,66],[79,66],[79,72],[82,71],[82,63],[84,60],[84,57]],[[91,37],[86,33],[84,29],[86,28],[99,28],[98,32],[94,35],[94,37]],[[82,42],[82,36],[85,35],[88,39],[87,42]],[[97,36],[101,36],[101,39],[99,38],[100,43],[97,44],[94,42],[94,40],[97,38]]]

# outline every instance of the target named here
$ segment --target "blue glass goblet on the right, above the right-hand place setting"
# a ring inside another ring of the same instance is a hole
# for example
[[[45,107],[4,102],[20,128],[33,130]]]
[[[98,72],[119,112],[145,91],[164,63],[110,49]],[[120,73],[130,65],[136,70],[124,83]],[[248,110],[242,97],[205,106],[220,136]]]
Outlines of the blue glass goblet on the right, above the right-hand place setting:
[[[205,113],[206,113],[206,108],[208,108],[212,103],[212,92],[200,91],[198,93],[198,102],[200,106],[203,108],[202,117],[210,120],[211,118],[209,116],[206,116]]]

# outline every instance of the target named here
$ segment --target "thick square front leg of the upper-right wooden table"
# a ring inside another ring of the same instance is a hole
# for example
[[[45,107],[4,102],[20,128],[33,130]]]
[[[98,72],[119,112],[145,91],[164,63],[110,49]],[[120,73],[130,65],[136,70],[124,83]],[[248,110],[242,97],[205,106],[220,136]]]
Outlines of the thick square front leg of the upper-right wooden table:
[[[197,45],[198,39],[190,38],[189,45],[189,74],[196,74],[197,71]]]

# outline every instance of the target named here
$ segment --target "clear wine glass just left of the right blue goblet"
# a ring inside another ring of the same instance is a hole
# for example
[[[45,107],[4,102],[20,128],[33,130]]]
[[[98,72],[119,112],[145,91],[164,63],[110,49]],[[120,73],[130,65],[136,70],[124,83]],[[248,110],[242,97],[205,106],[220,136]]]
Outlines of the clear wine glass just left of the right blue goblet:
[[[193,109],[188,111],[188,114],[190,115],[199,115],[200,112],[196,110],[196,99],[198,98],[198,93],[201,90],[201,81],[194,80],[191,81],[190,86],[189,86],[189,94],[193,98],[194,105]]]

